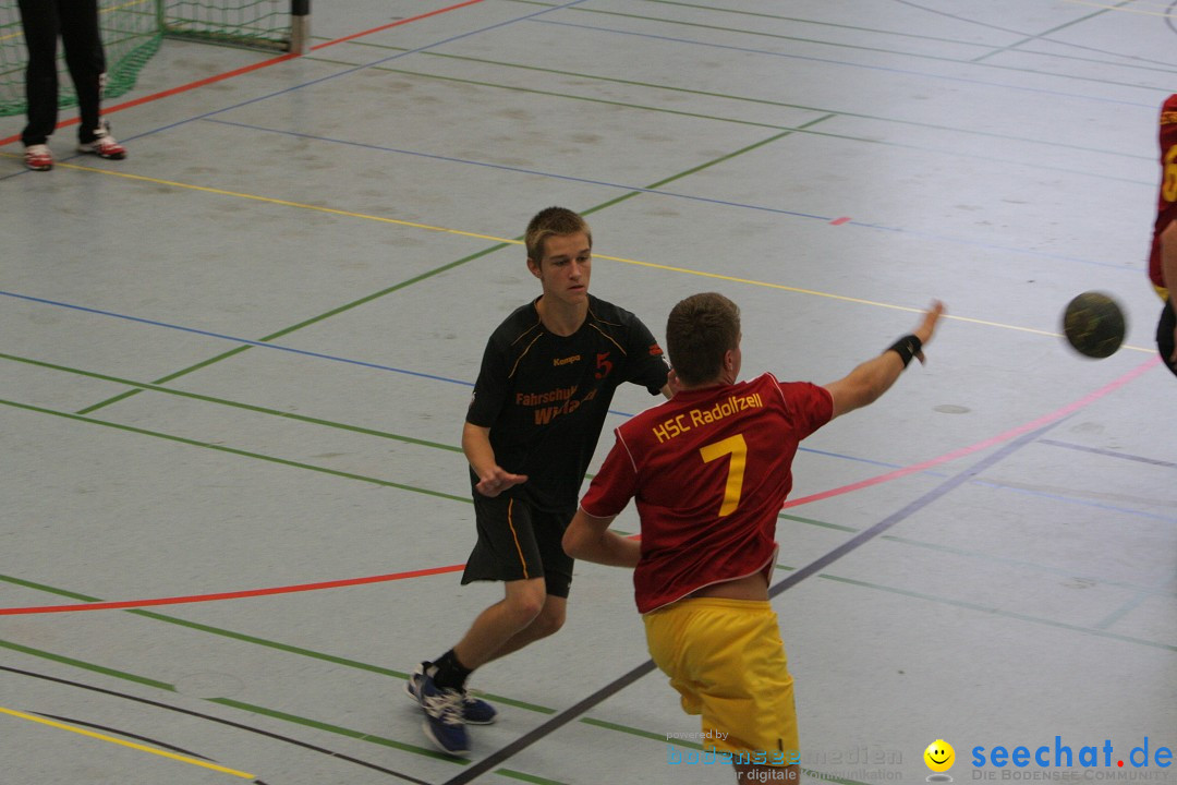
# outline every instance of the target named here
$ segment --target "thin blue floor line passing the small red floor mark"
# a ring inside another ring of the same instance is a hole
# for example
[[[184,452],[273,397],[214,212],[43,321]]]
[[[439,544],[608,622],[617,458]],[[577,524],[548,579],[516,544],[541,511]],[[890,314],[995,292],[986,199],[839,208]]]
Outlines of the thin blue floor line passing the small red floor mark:
[[[619,189],[619,191],[633,191],[633,192],[638,192],[638,193],[649,193],[649,194],[652,194],[652,195],[656,195],[656,197],[670,197],[672,199],[686,199],[689,201],[698,201],[698,202],[709,204],[709,205],[720,205],[720,206],[724,206],[724,207],[736,207],[736,208],[739,208],[739,209],[754,209],[754,211],[758,211],[758,212],[772,213],[772,214],[776,214],[776,215],[789,215],[789,217],[792,217],[792,218],[805,218],[805,219],[810,219],[810,220],[818,220],[818,221],[822,221],[823,224],[829,224],[830,221],[832,221],[832,220],[834,220],[837,218],[834,215],[817,215],[817,214],[813,214],[813,213],[805,213],[805,212],[794,211],[794,209],[783,209],[780,207],[767,207],[765,205],[751,205],[751,204],[747,204],[747,202],[727,201],[725,199],[713,199],[713,198],[710,198],[710,197],[696,197],[696,195],[692,195],[692,194],[678,193],[678,192],[674,192],[674,191],[663,191],[663,189],[659,189],[659,188],[644,188],[641,186],[626,185],[626,184],[623,184],[623,182],[610,182],[610,181],[606,181],[606,180],[592,180],[592,179],[588,179],[588,178],[578,178],[578,177],[572,177],[572,175],[568,175],[568,174],[556,174],[553,172],[543,172],[543,171],[539,171],[539,169],[528,169],[528,168],[524,168],[524,167],[519,167],[519,166],[506,166],[504,164],[487,164],[487,162],[484,162],[484,161],[474,161],[474,160],[470,160],[470,159],[465,159],[465,158],[454,158],[452,155],[440,155],[440,154],[437,154],[437,153],[421,153],[421,152],[418,152],[418,151],[404,149],[404,148],[400,148],[400,147],[385,147],[383,145],[373,145],[373,144],[370,144],[370,142],[348,141],[346,139],[334,139],[332,137],[318,137],[318,135],[314,135],[314,134],[301,133],[301,132],[298,132],[298,131],[285,131],[282,128],[268,128],[268,127],[265,127],[265,126],[257,126],[257,125],[252,125],[252,124],[248,124],[248,122],[235,122],[235,121],[232,121],[232,120],[213,120],[213,119],[208,119],[208,118],[202,118],[202,119],[205,121],[207,121],[207,122],[214,122],[214,124],[218,124],[218,125],[232,126],[232,127],[238,127],[238,128],[247,128],[250,131],[260,131],[260,132],[264,132],[264,133],[273,133],[273,134],[279,134],[279,135],[285,135],[285,137],[294,137],[297,139],[308,139],[308,140],[312,140],[312,141],[324,141],[324,142],[330,142],[330,144],[333,144],[333,145],[344,145],[344,146],[347,146],[347,147],[359,147],[359,148],[363,148],[363,149],[373,149],[373,151],[378,151],[378,152],[383,152],[383,153],[397,153],[397,154],[400,154],[400,155],[413,155],[413,157],[417,157],[417,158],[425,158],[425,159],[431,159],[431,160],[437,160],[437,161],[446,161],[446,162],[450,162],[450,164],[461,164],[461,165],[466,165],[466,166],[480,166],[480,167],[485,167],[485,168],[500,169],[500,171],[505,171],[505,172],[516,172],[516,173],[519,173],[519,174],[530,174],[530,175],[533,175],[533,177],[551,178],[553,180],[565,180],[565,181],[570,181],[570,182],[580,182],[580,184],[584,184],[584,185],[593,185],[593,186],[600,186],[600,187],[605,187],[605,188],[614,188],[614,189]],[[899,226],[886,226],[884,224],[871,224],[869,221],[850,220],[850,221],[845,221],[842,226],[856,226],[858,228],[876,229],[876,231],[879,231],[879,232],[891,232],[891,233],[896,233],[896,234],[903,234],[903,235],[906,235],[906,237],[920,238],[920,239],[924,239],[924,240],[933,240],[933,241],[937,241],[937,242],[947,242],[947,244],[952,244],[952,245],[964,245],[964,246],[969,246],[969,247],[972,247],[972,248],[984,248],[986,251],[998,251],[1000,253],[1018,254],[1018,255],[1025,255],[1025,257],[1033,257],[1036,259],[1050,259],[1050,260],[1053,260],[1053,261],[1069,261],[1069,262],[1077,262],[1077,264],[1082,264],[1082,265],[1092,265],[1092,266],[1096,266],[1096,267],[1105,267],[1105,268],[1116,270],[1116,271],[1123,272],[1123,273],[1130,273],[1132,275],[1141,275],[1143,273],[1143,270],[1144,270],[1143,265],[1137,265],[1137,266],[1133,267],[1133,266],[1124,265],[1123,261],[1111,262],[1111,261],[1097,261],[1095,259],[1080,259],[1078,257],[1069,257],[1069,255],[1060,254],[1060,253],[1048,253],[1045,251],[1033,251],[1031,248],[1016,248],[1016,247],[998,245],[996,242],[986,242],[984,240],[967,240],[967,239],[963,239],[963,238],[950,237],[950,235],[946,235],[946,234],[936,234],[935,232],[922,232],[919,229],[903,228],[903,227],[899,227]]]

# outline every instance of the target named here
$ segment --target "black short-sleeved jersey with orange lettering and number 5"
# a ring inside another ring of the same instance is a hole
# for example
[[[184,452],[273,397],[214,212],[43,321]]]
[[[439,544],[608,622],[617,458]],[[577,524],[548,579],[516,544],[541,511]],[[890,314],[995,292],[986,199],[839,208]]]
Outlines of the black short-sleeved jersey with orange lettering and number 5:
[[[527,475],[511,491],[516,497],[572,512],[613,392],[630,381],[658,394],[669,368],[658,341],[629,311],[588,295],[585,322],[564,337],[544,328],[537,301],[491,334],[466,421],[491,430],[499,466]]]

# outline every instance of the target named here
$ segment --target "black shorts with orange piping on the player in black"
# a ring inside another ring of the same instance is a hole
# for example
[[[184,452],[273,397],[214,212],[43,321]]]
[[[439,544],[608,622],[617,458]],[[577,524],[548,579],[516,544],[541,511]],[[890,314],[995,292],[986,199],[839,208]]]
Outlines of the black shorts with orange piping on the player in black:
[[[544,512],[521,499],[484,497],[474,491],[478,543],[461,583],[543,578],[548,594],[567,598],[572,557],[564,552],[564,530],[572,513]]]

